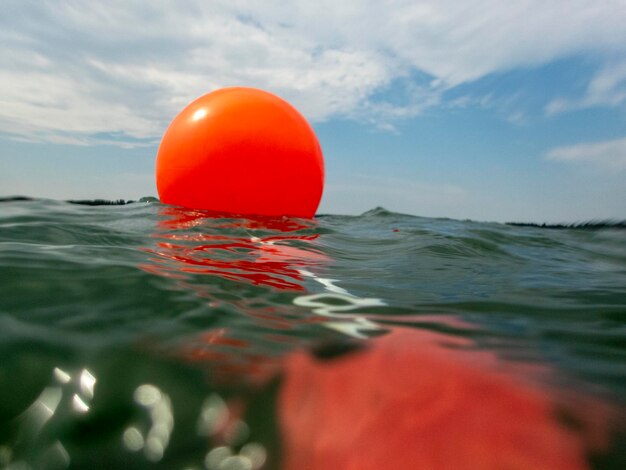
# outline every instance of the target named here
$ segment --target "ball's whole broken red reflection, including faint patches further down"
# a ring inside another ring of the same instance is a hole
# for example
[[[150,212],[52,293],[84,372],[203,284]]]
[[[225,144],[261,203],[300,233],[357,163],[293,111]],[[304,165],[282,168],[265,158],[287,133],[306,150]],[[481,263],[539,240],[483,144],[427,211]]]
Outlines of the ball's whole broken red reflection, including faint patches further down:
[[[266,330],[291,330],[322,321],[303,316],[289,304],[268,304],[262,297],[206,282],[203,276],[280,291],[302,292],[304,273],[325,265],[328,257],[316,249],[319,234],[313,220],[289,217],[234,218],[232,214],[163,207],[153,237],[153,256],[140,266],[152,274],[177,279],[177,286],[206,298],[214,309],[233,310],[254,319]],[[224,295],[227,300],[222,300]],[[261,357],[237,332],[218,328],[190,338],[177,355],[205,362],[214,384],[261,384],[275,375],[280,358]],[[276,338],[274,338],[276,339]]]

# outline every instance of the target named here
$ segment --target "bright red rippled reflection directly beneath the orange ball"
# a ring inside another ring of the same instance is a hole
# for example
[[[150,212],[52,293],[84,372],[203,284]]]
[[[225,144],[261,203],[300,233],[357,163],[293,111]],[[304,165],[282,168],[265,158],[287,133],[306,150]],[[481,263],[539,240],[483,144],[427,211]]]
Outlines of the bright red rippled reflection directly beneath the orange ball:
[[[159,222],[161,232],[155,234],[161,241],[155,248],[146,249],[156,257],[150,260],[152,263],[140,266],[153,274],[174,278],[184,278],[184,274],[210,275],[302,291],[301,270],[327,260],[311,246],[318,234],[294,233],[314,227],[314,221],[287,217],[227,219],[219,214],[177,207],[164,208],[160,214],[166,216]],[[198,233],[198,227],[206,228],[206,232]],[[268,231],[274,233],[267,235]],[[229,232],[234,233],[229,235]],[[303,249],[289,245],[294,242],[309,246]]]

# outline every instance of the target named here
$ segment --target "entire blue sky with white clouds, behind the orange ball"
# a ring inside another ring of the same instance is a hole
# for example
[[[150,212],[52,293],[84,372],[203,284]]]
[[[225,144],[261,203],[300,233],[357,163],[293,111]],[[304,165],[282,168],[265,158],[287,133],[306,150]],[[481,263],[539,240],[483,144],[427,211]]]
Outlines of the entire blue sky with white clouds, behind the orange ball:
[[[157,196],[193,99],[311,122],[319,213],[626,219],[626,0],[3,0],[0,197]]]

